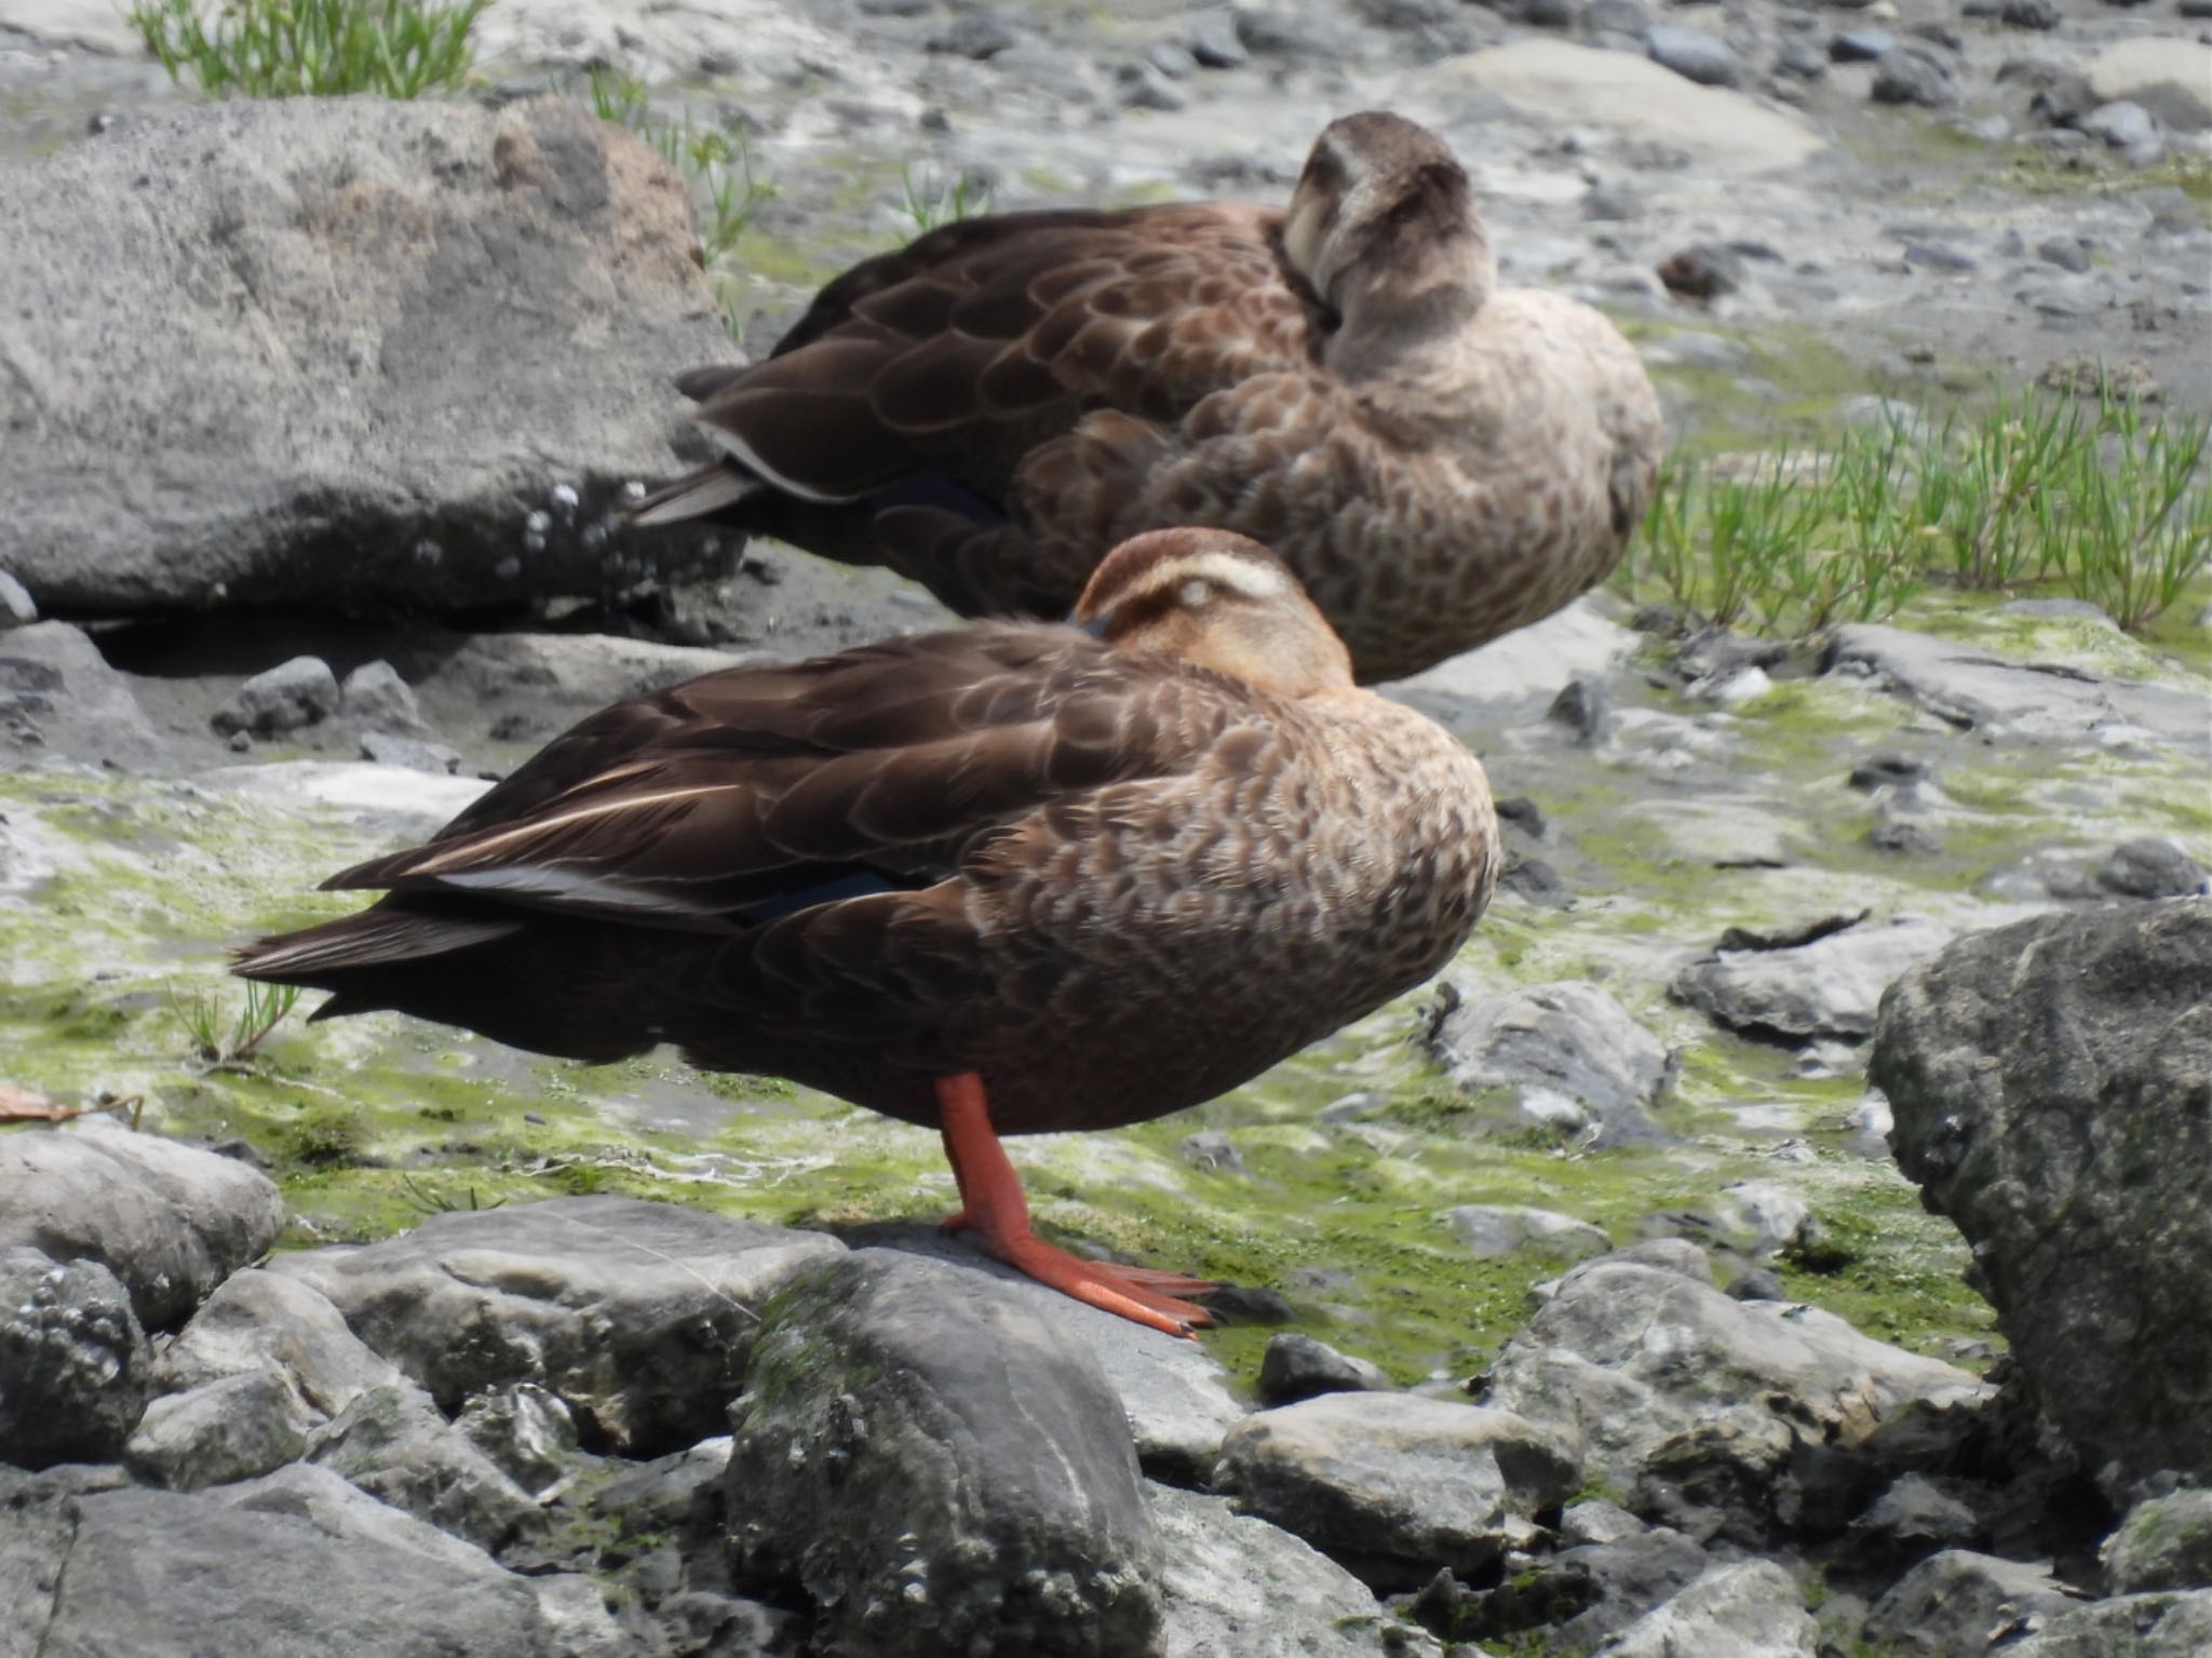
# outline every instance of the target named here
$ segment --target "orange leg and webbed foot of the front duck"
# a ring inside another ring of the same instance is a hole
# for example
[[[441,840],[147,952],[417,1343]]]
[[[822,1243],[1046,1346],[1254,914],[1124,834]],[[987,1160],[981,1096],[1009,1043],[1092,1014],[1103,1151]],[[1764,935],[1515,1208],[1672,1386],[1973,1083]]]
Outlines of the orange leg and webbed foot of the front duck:
[[[1212,1289],[1208,1280],[1082,1260],[1029,1229],[1022,1176],[998,1143],[982,1077],[973,1070],[938,1079],[938,1116],[945,1127],[945,1161],[953,1165],[953,1183],[960,1187],[960,1209],[945,1218],[947,1231],[973,1231],[984,1249],[1015,1271],[1155,1331],[1190,1335],[1194,1326],[1214,1322],[1203,1307],[1177,1300]]]

